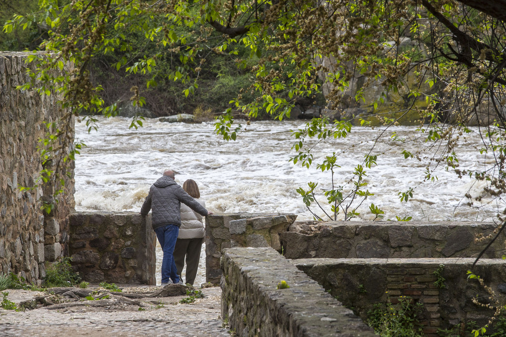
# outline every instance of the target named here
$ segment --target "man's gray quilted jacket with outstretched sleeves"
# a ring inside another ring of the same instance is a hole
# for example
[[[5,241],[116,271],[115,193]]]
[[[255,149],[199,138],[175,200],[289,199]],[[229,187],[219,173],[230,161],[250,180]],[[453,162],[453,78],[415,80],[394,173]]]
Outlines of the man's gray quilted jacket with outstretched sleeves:
[[[149,194],[142,205],[141,214],[147,215],[149,210],[152,210],[151,224],[153,229],[168,224],[180,227],[181,203],[202,216],[207,215],[207,210],[190,197],[183,187],[171,177],[164,175],[151,185]]]

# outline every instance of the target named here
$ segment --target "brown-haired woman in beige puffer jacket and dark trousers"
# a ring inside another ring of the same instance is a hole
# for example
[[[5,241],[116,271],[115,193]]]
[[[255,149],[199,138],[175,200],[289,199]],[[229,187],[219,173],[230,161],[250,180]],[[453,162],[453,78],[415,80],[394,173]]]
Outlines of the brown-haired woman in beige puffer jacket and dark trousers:
[[[186,180],[183,183],[183,189],[205,208],[204,201],[199,199],[200,191],[195,181],[192,179]],[[181,204],[181,227],[179,228],[176,248],[174,249],[174,260],[176,261],[178,274],[181,278],[186,258],[186,284],[193,285],[195,276],[197,276],[204,236],[205,230],[202,216],[185,204]]]

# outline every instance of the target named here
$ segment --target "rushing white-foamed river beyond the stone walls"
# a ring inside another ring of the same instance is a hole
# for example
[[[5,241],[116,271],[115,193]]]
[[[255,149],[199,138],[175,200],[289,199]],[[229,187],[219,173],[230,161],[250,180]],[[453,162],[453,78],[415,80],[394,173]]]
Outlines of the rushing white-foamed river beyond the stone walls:
[[[336,170],[336,184],[344,185],[357,164],[361,164],[369,140],[378,130],[355,127],[346,138],[326,141],[315,148],[310,169],[289,162],[291,129],[303,121],[252,122],[236,141],[224,141],[215,133],[212,122],[202,124],[165,123],[146,119],[138,130],[129,129],[128,118],[98,118],[98,131],[87,132],[84,122],[76,122],[76,141],[87,148],[75,162],[75,202],[77,211],[139,211],[151,184],[166,169],[173,169],[176,181],[193,179],[200,188],[207,209],[215,213],[266,212],[294,213],[298,220],[312,219],[298,187],[307,189],[309,181],[328,187],[330,173],[316,168],[324,155],[342,153]],[[411,137],[414,127],[395,127],[389,132]],[[490,196],[481,204],[467,206],[466,193],[482,195],[482,183],[469,177],[458,178],[452,171],[439,168],[438,179],[419,184],[425,176],[423,161],[404,159],[402,149],[388,136],[377,143],[372,154],[379,155],[377,166],[367,171],[367,189],[374,194],[364,202],[359,219],[372,220],[368,211],[374,203],[385,211],[384,219],[411,216],[413,220],[492,221],[496,210]],[[476,148],[480,138],[471,134],[457,146],[460,169],[479,169],[484,158]],[[420,146],[424,146],[421,143]],[[416,151],[416,145],[407,148]],[[400,202],[398,192],[416,187],[413,198]],[[327,205],[324,198],[320,204]],[[329,210],[329,207],[327,207]],[[321,211],[314,211],[323,216]],[[195,284],[205,281],[203,252]],[[161,259],[161,251],[157,256]],[[161,263],[157,262],[158,270]],[[158,271],[159,282],[159,271]]]

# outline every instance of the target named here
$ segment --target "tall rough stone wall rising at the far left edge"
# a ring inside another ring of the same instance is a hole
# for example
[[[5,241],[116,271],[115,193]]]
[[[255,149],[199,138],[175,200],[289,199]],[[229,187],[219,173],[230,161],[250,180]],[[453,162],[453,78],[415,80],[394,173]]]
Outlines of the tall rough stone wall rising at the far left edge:
[[[33,65],[25,64],[26,56],[0,52],[0,272],[14,272],[28,282],[40,284],[46,276],[44,262],[67,250],[74,181],[73,167],[60,167],[60,172],[68,173],[63,194],[51,214],[40,210],[42,201],[51,202],[51,195],[61,186],[41,186],[37,181],[43,168],[38,140],[45,136],[45,122],[58,124],[64,111],[53,95],[16,89],[30,81],[26,69]],[[20,186],[33,188],[21,190]]]

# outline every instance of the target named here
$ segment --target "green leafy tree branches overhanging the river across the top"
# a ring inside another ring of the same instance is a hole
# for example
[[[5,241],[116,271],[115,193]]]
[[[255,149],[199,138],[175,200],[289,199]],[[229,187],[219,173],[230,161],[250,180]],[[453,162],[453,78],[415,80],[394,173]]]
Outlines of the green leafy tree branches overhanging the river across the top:
[[[16,16],[4,31],[45,24],[47,38],[39,49],[56,53],[34,54],[31,61],[38,63],[37,71],[32,74],[32,83],[22,88],[31,85],[43,94],[60,92],[62,105],[72,115],[85,111],[114,115],[117,111],[116,103],[104,104],[103,88],[91,78],[90,65],[97,57],[106,57],[117,71],[143,75],[145,83],[133,86],[130,97],[134,105],[143,106],[143,93],[161,78],[179,82],[185,97],[193,94],[209,60],[226,56],[253,81],[230,98],[230,109],[217,120],[217,132],[225,139],[235,139],[238,132],[233,112],[250,117],[267,112],[281,120],[301,98],[315,99],[324,92],[326,108],[339,111],[365,101],[369,90],[376,90],[380,94],[370,103],[374,125],[386,130],[407,114],[416,113],[420,135],[396,141],[401,148],[407,141],[427,142],[424,153],[403,151],[406,159],[426,163],[426,180],[435,178],[436,167],[445,166],[460,176],[486,180],[486,192],[502,201],[506,190],[506,32],[502,12],[494,10],[501,8],[501,3],[41,0],[38,12]],[[142,48],[137,45],[139,37]],[[413,43],[403,44],[406,37]],[[177,62],[160,68],[161,60]],[[73,65],[71,72],[51,75],[51,69],[63,69],[67,64]],[[356,85],[353,79],[358,76],[363,83],[354,88],[353,95],[343,94]],[[395,115],[381,109],[392,97],[403,102]],[[370,116],[347,115],[341,121],[338,116],[335,122],[322,117],[294,131],[294,163],[312,165],[314,142],[309,139],[317,137],[321,142],[338,137],[352,124],[372,125]],[[88,121],[93,123],[93,118]],[[479,151],[494,158],[479,171],[458,169],[455,146],[467,133],[476,132],[468,128],[470,123],[483,126],[478,131],[483,139]],[[134,118],[132,127],[138,125],[142,121]],[[382,155],[375,151],[375,141],[346,188],[333,181],[332,169],[339,165],[339,155],[327,156],[318,164],[332,175],[331,187],[322,190],[331,205],[329,218],[335,219],[340,210],[347,218],[356,216],[357,200],[362,204],[371,195],[362,177],[364,168],[375,165]],[[312,184],[308,191],[300,189],[308,207],[316,188],[316,183]],[[400,191],[400,201],[412,198],[415,187]],[[467,197],[470,204],[476,199]],[[346,204],[347,200],[355,206]],[[373,204],[369,209],[376,217],[382,214]]]

